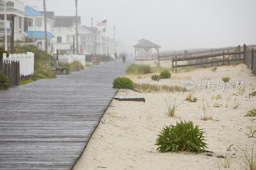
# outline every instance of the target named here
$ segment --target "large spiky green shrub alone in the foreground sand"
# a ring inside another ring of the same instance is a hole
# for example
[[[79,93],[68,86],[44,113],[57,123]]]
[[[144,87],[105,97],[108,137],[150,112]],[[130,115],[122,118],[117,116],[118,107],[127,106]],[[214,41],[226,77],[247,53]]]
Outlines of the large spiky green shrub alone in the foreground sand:
[[[165,126],[156,139],[156,144],[159,146],[156,150],[160,152],[167,151],[197,151],[200,152],[205,148],[208,148],[202,131],[196,125],[194,127],[193,122],[189,121],[184,123],[176,122],[176,126]]]

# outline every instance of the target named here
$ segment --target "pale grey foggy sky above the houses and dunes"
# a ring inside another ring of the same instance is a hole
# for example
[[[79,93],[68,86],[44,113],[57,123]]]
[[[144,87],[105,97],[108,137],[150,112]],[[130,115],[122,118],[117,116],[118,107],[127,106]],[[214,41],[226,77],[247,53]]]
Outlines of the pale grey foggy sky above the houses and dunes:
[[[45,0],[46,11],[75,15],[75,0]],[[43,11],[43,0],[24,0]],[[256,44],[256,0],[78,0],[83,25],[107,20],[108,36],[123,42],[125,50],[141,38],[161,46],[160,51]],[[98,27],[99,28],[99,27]]]

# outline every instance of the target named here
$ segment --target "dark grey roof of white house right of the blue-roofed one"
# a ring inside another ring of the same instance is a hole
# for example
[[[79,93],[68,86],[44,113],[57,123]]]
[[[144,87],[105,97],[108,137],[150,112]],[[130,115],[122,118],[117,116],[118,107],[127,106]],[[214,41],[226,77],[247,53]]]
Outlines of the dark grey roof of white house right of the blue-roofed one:
[[[55,16],[55,27],[70,27],[76,24],[76,16]],[[81,24],[80,16],[77,16],[77,23]]]

